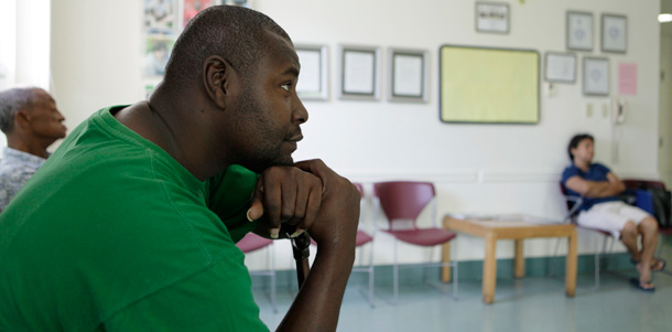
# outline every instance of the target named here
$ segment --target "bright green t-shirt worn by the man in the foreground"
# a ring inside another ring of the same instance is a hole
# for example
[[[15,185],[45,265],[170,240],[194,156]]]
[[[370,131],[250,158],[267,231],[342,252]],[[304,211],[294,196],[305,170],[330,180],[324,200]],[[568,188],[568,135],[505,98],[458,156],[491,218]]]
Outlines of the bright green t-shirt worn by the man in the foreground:
[[[243,254],[257,175],[205,183],[97,111],[0,214],[0,331],[268,331]]]

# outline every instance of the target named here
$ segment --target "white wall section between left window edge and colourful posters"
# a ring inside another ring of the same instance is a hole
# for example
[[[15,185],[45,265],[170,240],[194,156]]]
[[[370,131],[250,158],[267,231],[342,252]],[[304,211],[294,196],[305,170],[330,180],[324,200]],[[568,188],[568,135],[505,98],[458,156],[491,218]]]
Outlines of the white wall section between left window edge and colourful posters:
[[[142,96],[142,0],[52,0],[52,93],[74,129]]]

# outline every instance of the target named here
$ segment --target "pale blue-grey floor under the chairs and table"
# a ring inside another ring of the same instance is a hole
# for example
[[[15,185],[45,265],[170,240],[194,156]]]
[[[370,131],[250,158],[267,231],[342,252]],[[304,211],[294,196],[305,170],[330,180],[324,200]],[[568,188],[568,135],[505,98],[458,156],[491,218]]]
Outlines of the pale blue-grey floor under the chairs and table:
[[[338,331],[672,331],[672,276],[655,274],[657,290],[650,293],[628,283],[633,275],[633,268],[604,274],[599,289],[593,288],[592,274],[579,275],[574,298],[565,297],[560,276],[500,278],[494,304],[483,303],[479,280],[460,280],[458,300],[451,298],[451,285],[438,286],[445,292],[403,285],[397,306],[390,303],[391,287],[377,286],[376,308],[353,285]],[[278,313],[263,290],[254,296],[261,319],[274,330],[294,293],[279,289]]]

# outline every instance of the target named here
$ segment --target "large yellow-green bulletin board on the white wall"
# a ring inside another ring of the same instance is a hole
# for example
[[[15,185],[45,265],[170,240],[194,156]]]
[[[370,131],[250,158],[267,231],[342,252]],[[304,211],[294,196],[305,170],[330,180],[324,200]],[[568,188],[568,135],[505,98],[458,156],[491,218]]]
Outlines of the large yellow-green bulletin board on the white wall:
[[[444,45],[441,120],[538,124],[539,52]]]

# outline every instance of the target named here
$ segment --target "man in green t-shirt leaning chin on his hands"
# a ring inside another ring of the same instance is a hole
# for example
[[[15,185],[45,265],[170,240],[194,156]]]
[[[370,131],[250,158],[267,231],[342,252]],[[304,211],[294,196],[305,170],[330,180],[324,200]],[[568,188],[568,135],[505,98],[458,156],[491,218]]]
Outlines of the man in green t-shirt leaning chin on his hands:
[[[0,330],[268,330],[235,246],[252,229],[319,245],[279,330],[335,330],[359,194],[292,159],[299,72],[268,17],[198,14],[150,99],[94,114],[0,214]]]

